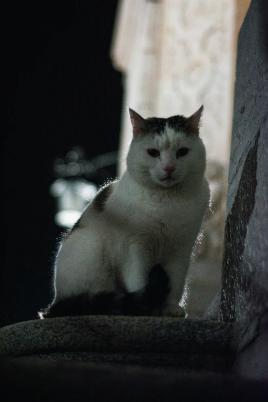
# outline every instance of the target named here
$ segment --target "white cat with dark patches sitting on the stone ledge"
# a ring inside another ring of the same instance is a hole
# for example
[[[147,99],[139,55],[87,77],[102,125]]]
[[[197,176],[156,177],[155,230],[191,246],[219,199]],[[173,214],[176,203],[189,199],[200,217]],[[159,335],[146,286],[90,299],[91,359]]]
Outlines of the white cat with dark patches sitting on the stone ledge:
[[[129,108],[127,169],[99,190],[65,236],[54,299],[40,318],[185,316],[179,303],[210,197],[202,111],[144,119]]]

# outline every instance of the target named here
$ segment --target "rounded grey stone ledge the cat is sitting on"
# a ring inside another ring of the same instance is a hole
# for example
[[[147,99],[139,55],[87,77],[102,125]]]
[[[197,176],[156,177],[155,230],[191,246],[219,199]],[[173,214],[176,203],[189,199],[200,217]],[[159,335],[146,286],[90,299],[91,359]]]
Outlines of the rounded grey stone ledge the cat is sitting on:
[[[234,326],[173,317],[46,318],[0,329],[0,355],[226,372],[235,355]]]

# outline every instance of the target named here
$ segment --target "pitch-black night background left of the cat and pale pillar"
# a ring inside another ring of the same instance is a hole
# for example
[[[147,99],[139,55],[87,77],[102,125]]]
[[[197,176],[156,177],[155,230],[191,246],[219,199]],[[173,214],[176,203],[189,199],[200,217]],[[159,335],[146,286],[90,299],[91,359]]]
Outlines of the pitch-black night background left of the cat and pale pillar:
[[[53,160],[73,145],[84,146],[87,159],[117,150],[122,100],[109,56],[116,1],[7,4],[1,326],[35,319],[51,301],[63,230],[49,194]],[[116,166],[105,174],[113,178]]]

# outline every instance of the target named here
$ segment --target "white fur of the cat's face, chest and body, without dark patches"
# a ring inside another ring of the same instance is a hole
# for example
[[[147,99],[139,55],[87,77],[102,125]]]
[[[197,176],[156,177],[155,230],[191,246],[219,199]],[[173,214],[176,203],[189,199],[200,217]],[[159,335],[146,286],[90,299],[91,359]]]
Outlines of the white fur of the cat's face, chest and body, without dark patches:
[[[186,156],[176,151],[189,148]],[[158,149],[153,158],[147,149]],[[167,177],[165,166],[175,170]],[[99,212],[91,202],[60,247],[55,264],[55,300],[90,291],[143,288],[162,264],[171,285],[162,315],[181,315],[190,256],[209,203],[205,148],[198,135],[168,127],[161,135],[133,138],[127,170]]]

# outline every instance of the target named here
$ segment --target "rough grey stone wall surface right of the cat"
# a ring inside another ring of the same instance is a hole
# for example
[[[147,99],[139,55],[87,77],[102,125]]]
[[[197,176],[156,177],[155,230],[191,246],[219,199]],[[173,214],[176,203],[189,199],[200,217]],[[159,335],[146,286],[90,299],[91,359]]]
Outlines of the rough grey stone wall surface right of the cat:
[[[252,0],[239,35],[219,309],[240,322],[238,371],[256,376],[268,375],[267,8]]]

